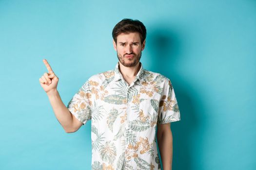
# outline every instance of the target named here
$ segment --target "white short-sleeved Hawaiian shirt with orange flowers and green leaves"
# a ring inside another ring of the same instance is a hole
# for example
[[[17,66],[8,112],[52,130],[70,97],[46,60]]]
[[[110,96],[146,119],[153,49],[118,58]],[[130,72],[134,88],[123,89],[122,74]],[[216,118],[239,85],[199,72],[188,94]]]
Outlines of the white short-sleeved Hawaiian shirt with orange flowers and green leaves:
[[[141,63],[131,85],[118,64],[93,75],[67,108],[83,124],[92,121],[92,170],[160,170],[157,125],[180,120],[170,80]]]

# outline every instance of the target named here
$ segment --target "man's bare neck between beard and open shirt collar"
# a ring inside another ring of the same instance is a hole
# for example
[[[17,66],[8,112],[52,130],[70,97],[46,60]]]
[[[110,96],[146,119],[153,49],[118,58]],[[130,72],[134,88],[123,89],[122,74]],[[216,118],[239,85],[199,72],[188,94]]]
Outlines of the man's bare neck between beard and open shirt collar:
[[[136,77],[138,74],[138,71],[140,69],[140,62],[138,62],[134,67],[125,67],[119,62],[119,70],[120,73],[122,74],[124,79],[131,79]]]

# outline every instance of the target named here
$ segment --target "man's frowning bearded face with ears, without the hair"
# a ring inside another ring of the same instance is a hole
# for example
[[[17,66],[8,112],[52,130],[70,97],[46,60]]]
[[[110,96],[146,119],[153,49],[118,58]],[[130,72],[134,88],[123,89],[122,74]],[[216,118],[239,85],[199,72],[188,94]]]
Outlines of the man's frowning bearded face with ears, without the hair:
[[[117,43],[113,40],[119,62],[125,67],[134,67],[138,64],[141,51],[144,50],[145,40],[141,44],[139,33],[119,34]]]

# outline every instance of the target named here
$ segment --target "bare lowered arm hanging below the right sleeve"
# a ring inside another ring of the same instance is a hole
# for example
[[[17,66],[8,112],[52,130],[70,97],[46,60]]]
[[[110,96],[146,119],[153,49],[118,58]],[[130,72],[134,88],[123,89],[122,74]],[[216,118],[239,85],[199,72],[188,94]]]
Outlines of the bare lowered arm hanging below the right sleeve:
[[[172,170],[173,136],[171,130],[158,136],[158,147],[161,155],[163,170]]]

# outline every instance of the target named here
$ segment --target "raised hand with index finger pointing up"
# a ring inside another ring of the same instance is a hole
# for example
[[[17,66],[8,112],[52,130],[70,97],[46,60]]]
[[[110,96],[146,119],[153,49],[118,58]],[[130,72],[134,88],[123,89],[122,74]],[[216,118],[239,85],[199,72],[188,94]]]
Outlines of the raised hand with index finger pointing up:
[[[39,78],[39,83],[46,93],[50,91],[57,90],[57,85],[59,78],[54,74],[51,66],[46,59],[43,59],[43,63],[46,66],[48,73],[44,73],[41,78]]]

